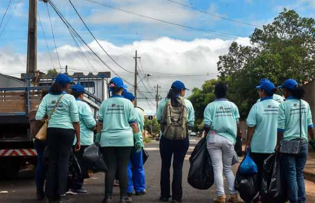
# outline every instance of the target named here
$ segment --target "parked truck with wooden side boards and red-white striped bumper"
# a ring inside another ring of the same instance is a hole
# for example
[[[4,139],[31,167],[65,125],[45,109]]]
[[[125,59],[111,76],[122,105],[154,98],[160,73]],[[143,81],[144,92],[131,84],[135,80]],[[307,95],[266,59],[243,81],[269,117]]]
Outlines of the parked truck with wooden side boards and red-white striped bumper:
[[[30,134],[28,115],[34,106],[41,103],[42,90],[48,90],[55,77],[44,75],[34,86],[27,74],[22,74],[22,79],[0,75],[0,177],[15,177],[23,167],[36,166],[37,152]],[[85,88],[83,100],[89,104],[97,119],[101,101],[108,97],[107,78],[110,72],[97,75],[74,73],[73,77],[75,83],[90,84]],[[90,92],[92,89],[93,92]]]

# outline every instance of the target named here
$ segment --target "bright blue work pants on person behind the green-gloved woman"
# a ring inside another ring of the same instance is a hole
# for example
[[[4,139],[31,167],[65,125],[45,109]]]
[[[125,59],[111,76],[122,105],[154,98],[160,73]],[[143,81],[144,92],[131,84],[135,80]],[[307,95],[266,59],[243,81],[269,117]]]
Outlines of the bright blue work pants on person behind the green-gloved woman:
[[[142,151],[137,152],[134,147],[128,163],[128,193],[140,193],[146,189],[145,171],[143,167]]]

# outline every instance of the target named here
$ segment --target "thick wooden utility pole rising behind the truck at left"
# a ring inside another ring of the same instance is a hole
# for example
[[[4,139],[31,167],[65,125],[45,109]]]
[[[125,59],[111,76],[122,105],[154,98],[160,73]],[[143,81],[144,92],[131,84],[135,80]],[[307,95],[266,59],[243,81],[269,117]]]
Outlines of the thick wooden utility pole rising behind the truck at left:
[[[37,0],[29,0],[28,39],[27,39],[27,73],[37,71]]]

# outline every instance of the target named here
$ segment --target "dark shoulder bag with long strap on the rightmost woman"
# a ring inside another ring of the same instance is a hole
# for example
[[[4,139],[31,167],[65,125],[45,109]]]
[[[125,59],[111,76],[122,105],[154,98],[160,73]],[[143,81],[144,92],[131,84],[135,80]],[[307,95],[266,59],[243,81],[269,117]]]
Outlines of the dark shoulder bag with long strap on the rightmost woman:
[[[281,140],[280,141],[280,153],[299,155],[301,151],[302,140],[302,104],[300,99],[300,139],[299,140]]]

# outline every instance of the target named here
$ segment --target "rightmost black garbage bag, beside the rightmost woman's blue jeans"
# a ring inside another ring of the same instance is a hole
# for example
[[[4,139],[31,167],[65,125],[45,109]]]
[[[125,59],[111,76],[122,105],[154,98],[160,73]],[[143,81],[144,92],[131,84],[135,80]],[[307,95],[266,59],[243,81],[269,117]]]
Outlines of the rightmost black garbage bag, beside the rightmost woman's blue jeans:
[[[281,155],[271,154],[264,161],[261,180],[261,200],[263,202],[286,202],[287,191],[284,173],[281,170]]]

